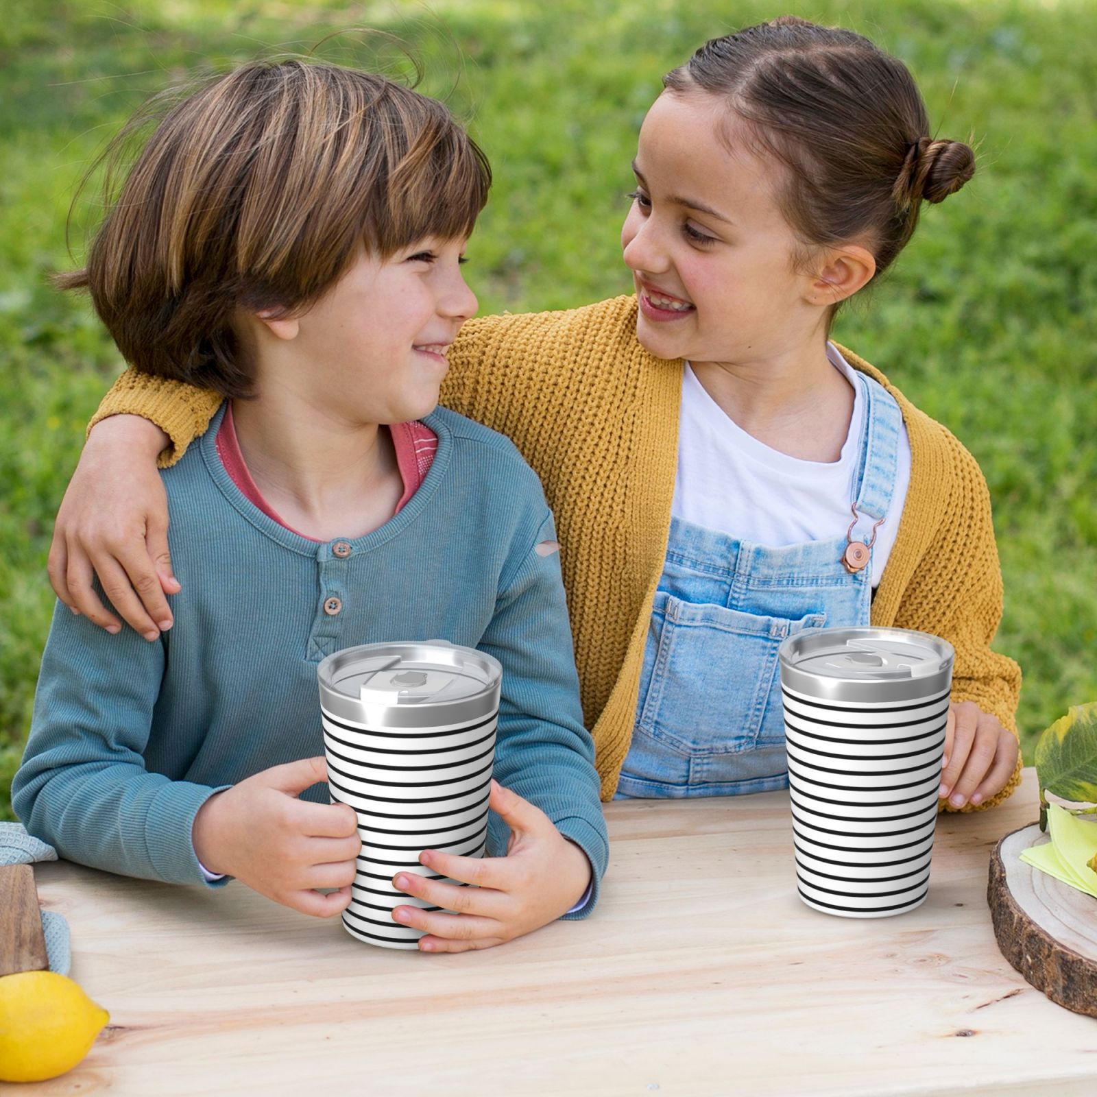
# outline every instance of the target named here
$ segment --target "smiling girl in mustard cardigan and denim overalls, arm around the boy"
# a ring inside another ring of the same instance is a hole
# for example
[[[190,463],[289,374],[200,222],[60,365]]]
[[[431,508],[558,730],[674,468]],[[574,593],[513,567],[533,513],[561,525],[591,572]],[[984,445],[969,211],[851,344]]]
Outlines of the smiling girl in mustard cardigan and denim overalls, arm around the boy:
[[[997,803],[1019,779],[1020,674],[989,648],[1002,580],[985,483],[827,338],[921,203],[971,178],[972,151],[930,137],[900,61],[799,19],[709,42],[664,83],[622,231],[635,294],[475,320],[442,391],[517,442],[558,516],[602,796],[783,785],[780,641],[871,622],[953,644],[940,794]],[[58,517],[55,589],[98,623],[117,626],[92,567],[125,588],[136,627],[170,623],[152,455],[174,460],[215,402],[131,372],[100,409],[163,431],[95,427]],[[121,529],[99,517],[123,500]]]

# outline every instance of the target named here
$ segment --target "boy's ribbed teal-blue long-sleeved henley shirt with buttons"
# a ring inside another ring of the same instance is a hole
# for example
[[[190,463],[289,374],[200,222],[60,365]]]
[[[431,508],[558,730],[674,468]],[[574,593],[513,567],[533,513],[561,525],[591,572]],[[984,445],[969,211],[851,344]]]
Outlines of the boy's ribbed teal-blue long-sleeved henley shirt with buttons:
[[[211,429],[163,472],[173,627],[111,636],[58,604],[30,739],[12,783],[27,829],[70,860],[127,875],[203,878],[191,828],[217,790],[323,755],[316,668],[343,647],[448,640],[502,664],[497,780],[541,807],[593,869],[606,825],[583,726],[555,540],[536,476],[502,436],[439,409],[422,485],[363,538],[308,541],[233,483]],[[354,524],[351,519],[349,525]],[[332,546],[348,541],[349,555]],[[325,604],[338,598],[341,609]],[[327,785],[303,799],[326,803]],[[493,813],[488,852],[509,832]],[[575,915],[579,916],[579,915]]]

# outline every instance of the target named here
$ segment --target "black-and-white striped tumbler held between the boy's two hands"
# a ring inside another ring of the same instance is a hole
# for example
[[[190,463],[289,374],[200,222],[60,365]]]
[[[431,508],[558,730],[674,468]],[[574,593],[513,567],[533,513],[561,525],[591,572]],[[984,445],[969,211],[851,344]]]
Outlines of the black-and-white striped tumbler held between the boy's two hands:
[[[483,857],[502,668],[433,640],[343,648],[318,675],[328,788],[354,808],[362,838],[343,926],[369,945],[415,949],[422,932],[393,921],[393,908],[439,908],[397,891],[393,875],[444,880],[419,863],[425,849]]]

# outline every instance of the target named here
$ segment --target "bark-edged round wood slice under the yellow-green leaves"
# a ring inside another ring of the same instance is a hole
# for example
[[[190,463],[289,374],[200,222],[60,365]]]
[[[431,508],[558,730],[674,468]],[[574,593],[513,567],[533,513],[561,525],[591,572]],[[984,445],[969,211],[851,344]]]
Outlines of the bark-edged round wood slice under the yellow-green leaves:
[[[1048,841],[1033,823],[1007,834],[991,855],[986,901],[1002,954],[1038,991],[1097,1017],[1097,898],[1021,861]]]

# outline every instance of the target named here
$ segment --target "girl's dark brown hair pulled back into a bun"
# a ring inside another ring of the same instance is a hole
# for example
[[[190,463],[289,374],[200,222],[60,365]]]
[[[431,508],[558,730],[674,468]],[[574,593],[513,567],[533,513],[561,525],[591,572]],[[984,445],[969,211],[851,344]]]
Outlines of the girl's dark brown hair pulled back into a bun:
[[[877,273],[911,239],[923,200],[975,171],[968,145],[930,136],[906,66],[850,31],[785,15],[706,42],[663,83],[722,97],[789,169],[780,200],[804,242],[863,241]]]

